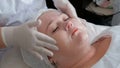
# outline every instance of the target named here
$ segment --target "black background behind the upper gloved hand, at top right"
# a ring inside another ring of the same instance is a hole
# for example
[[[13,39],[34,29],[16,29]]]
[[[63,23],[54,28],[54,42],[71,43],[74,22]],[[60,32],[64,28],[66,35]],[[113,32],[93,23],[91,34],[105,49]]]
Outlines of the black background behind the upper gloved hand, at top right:
[[[113,16],[111,13],[111,10],[109,14],[108,14],[109,10],[107,10],[108,12],[105,13],[106,9],[101,9],[101,7],[96,5],[93,2],[93,0],[69,0],[69,1],[75,7],[76,12],[80,18],[86,19],[88,22],[91,22],[94,24],[111,26],[111,20]],[[47,2],[48,8],[55,8],[52,0],[46,0],[46,2]],[[91,3],[92,3],[92,6],[94,5],[92,8],[90,7],[92,11],[87,10],[88,7],[91,5]],[[100,12],[96,13],[97,12],[96,10],[98,9],[101,10],[101,13]]]

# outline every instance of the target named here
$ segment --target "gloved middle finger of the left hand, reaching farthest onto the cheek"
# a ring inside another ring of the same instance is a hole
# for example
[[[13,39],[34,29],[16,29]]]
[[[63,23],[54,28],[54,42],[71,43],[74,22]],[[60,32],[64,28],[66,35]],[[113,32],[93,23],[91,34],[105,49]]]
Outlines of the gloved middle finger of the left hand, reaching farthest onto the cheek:
[[[54,44],[50,44],[48,42],[38,41],[38,40],[36,42],[37,42],[38,46],[46,47],[46,48],[51,49],[51,50],[59,50],[59,48]]]

